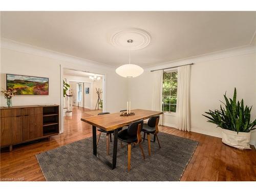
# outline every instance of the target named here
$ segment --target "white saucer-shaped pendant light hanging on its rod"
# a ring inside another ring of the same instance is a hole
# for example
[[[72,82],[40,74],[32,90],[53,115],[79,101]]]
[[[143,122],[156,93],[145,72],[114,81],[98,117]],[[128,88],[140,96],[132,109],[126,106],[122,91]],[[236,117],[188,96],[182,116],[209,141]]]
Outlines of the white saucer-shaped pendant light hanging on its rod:
[[[137,65],[131,64],[131,43],[132,39],[127,40],[129,43],[129,64],[122,65],[116,69],[116,73],[122,77],[137,77],[141,75],[144,70]]]

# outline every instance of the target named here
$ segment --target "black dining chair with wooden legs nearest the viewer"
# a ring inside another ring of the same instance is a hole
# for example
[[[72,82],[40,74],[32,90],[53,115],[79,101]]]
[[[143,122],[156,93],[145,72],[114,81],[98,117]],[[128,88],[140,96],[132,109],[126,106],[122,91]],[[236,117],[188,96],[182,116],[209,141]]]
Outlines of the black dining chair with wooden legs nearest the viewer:
[[[131,169],[131,150],[132,150],[132,143],[139,144],[140,150],[145,159],[145,155],[143,152],[143,148],[141,146],[141,129],[143,127],[143,120],[138,120],[132,122],[127,129],[122,130],[118,133],[118,139],[127,143],[127,153],[128,153],[128,160],[127,160],[127,169],[128,172]]]

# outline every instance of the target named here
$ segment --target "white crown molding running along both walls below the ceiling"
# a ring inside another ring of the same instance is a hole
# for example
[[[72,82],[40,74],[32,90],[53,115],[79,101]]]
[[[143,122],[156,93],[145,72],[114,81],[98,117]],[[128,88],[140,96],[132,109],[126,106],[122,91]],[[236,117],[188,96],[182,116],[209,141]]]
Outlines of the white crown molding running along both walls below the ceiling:
[[[103,70],[114,70],[115,69],[115,67],[105,65],[104,63],[100,63],[100,62],[96,62],[96,61],[92,61],[92,60],[88,60],[88,59],[84,59],[84,58],[80,58],[80,57],[75,57],[72,55],[68,55],[68,54],[64,54],[64,53],[60,53],[60,52],[56,52],[56,51],[52,51],[52,50],[48,50],[48,49],[44,49],[44,48],[35,47],[32,45],[24,44],[22,42],[14,41],[14,40],[7,39],[7,38],[1,38],[0,47],[3,49],[9,49],[9,50],[13,50],[13,51],[38,55],[38,56],[42,56],[42,57],[48,57],[48,58],[66,61],[66,62],[70,62],[70,63],[76,63],[83,67],[87,66],[87,67],[97,68],[97,69],[101,69],[101,70],[102,69]],[[157,70],[157,69],[162,69],[162,68],[175,67],[175,66],[184,65],[186,63],[191,63],[191,62],[199,63],[199,62],[216,60],[216,59],[238,56],[238,55],[244,55],[244,54],[249,54],[249,53],[254,53],[254,52],[256,52],[256,46],[243,46],[243,47],[226,49],[226,50],[207,53],[207,54],[203,54],[203,55],[178,59],[178,60],[174,60],[174,61],[158,63],[157,65],[145,67],[144,71],[151,71],[151,70]]]

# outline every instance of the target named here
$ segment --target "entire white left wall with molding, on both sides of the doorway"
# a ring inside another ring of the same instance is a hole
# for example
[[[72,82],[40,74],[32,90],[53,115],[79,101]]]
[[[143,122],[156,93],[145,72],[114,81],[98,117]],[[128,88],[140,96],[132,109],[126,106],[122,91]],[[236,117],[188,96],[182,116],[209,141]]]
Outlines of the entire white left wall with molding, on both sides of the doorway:
[[[105,111],[117,112],[127,101],[127,80],[118,76],[113,68],[88,60],[19,44],[1,39],[1,88],[6,88],[6,73],[49,78],[49,96],[15,96],[13,105],[60,104],[60,65],[67,69],[105,74]],[[119,93],[119,94],[117,94]],[[1,106],[6,100],[1,94]]]

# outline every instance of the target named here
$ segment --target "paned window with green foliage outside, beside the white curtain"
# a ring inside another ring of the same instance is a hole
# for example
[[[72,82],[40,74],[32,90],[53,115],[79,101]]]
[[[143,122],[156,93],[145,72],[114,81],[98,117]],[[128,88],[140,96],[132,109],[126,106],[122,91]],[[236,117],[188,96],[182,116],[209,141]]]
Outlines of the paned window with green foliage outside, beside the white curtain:
[[[176,112],[177,77],[177,71],[163,72],[163,112]]]

